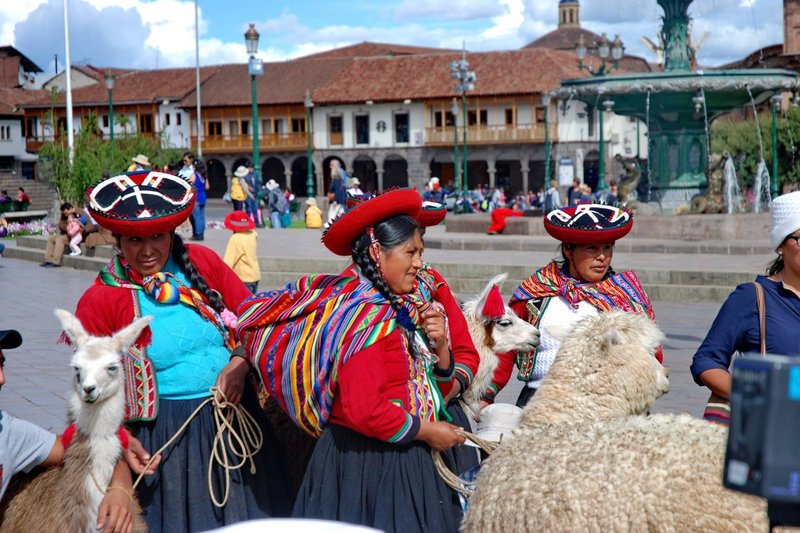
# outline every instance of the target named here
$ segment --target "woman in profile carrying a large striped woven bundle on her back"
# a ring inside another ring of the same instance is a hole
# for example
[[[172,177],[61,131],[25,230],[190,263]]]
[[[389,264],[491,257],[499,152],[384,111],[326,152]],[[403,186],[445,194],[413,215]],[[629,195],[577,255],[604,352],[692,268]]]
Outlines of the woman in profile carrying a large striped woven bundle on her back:
[[[319,436],[295,516],[458,530],[458,498],[430,454],[464,439],[436,385],[452,379],[454,359],[442,306],[419,282],[420,208],[409,189],[357,203],[323,236],[355,269],[301,278],[240,310],[240,335],[270,394]]]

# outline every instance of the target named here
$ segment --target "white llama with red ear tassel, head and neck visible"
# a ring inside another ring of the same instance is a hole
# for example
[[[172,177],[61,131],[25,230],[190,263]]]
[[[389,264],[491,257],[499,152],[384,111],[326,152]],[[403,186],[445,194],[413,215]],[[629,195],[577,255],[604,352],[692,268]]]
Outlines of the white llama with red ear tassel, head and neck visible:
[[[519,318],[510,307],[503,304],[502,316],[487,316],[485,305],[492,291],[499,293],[500,287],[508,277],[503,273],[492,278],[483,291],[462,306],[467,326],[480,355],[480,365],[469,388],[461,397],[464,411],[477,419],[478,401],[481,394],[489,387],[497,368],[498,353],[515,350],[530,351],[539,346],[539,331],[528,322]],[[495,289],[496,287],[496,289]]]

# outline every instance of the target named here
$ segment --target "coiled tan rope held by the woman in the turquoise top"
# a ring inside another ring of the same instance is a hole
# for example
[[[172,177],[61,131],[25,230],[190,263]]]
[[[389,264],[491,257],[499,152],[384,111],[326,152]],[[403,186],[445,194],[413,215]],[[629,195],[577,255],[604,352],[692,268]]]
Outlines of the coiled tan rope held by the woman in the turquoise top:
[[[229,402],[225,394],[219,388],[211,387],[210,391],[211,397],[198,405],[183,425],[178,428],[178,431],[176,431],[161,448],[151,454],[150,460],[147,461],[142,473],[139,474],[139,477],[136,478],[133,484],[134,490],[136,490],[137,485],[139,485],[145,472],[147,472],[148,468],[150,468],[156,460],[156,457],[183,434],[194,417],[209,403],[214,405],[214,423],[217,428],[214,441],[211,445],[212,453],[208,459],[208,494],[211,496],[211,501],[214,502],[214,505],[217,507],[224,507],[228,502],[232,470],[238,470],[249,461],[250,473],[255,474],[256,463],[254,457],[261,449],[261,445],[264,442],[264,434],[261,432],[261,428],[258,427],[258,423],[255,418],[253,418],[253,415],[248,413],[241,405],[235,405]],[[227,452],[237,457],[239,461],[236,464],[231,464]],[[224,491],[221,500],[217,498],[212,479],[215,463],[222,467],[224,475]]]

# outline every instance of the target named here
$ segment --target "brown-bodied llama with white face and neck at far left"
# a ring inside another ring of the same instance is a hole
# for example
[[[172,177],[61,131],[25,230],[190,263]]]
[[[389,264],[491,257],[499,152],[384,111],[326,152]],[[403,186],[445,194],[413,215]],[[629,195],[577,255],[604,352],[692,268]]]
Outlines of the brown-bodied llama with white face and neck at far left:
[[[125,415],[122,354],[152,316],[135,320],[111,337],[89,335],[67,311],[56,316],[76,351],[69,418],[76,433],[64,462],[33,478],[9,498],[0,531],[95,531],[97,510],[117,460],[122,455],[118,431]],[[134,529],[146,531],[135,505]]]

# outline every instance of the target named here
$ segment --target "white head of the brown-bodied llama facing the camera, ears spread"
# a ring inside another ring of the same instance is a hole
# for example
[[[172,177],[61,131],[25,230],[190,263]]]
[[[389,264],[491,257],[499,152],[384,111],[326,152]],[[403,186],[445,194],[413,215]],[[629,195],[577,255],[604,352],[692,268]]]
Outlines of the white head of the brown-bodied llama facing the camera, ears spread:
[[[103,401],[117,394],[122,385],[122,354],[139,337],[153,319],[145,316],[134,320],[110,337],[94,337],[69,311],[56,309],[61,327],[75,347],[72,368],[75,370],[75,393],[87,403]]]

